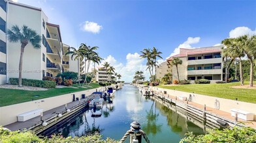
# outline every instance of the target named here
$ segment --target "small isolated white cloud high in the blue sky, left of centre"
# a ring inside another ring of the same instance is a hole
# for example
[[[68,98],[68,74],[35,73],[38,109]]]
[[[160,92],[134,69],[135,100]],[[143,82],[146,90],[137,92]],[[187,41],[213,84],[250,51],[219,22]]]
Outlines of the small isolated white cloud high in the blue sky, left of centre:
[[[98,23],[92,22],[92,21],[85,21],[82,23],[82,30],[92,32],[94,34],[97,34],[103,29],[103,26],[98,25]]]

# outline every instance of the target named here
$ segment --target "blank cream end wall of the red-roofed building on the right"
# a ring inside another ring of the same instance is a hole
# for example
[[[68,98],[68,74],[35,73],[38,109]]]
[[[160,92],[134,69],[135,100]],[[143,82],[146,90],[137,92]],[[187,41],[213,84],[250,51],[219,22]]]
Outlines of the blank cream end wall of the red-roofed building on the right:
[[[187,79],[187,57],[181,57],[182,64],[178,65],[180,80]],[[172,80],[178,80],[176,66],[172,66]]]

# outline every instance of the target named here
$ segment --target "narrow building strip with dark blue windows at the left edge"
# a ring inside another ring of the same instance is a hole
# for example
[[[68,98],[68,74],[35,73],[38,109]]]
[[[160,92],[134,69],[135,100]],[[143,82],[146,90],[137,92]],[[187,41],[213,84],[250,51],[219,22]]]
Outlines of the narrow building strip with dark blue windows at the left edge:
[[[0,85],[6,83],[7,79],[7,1],[0,0]]]

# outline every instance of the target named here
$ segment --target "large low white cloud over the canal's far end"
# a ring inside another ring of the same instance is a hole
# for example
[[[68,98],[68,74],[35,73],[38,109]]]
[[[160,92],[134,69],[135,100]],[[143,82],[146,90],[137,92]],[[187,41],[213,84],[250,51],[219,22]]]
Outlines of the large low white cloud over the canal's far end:
[[[133,81],[133,76],[136,71],[144,72],[146,80],[150,77],[150,73],[146,71],[146,65],[143,64],[144,59],[140,58],[138,53],[128,53],[126,55],[126,62],[123,64],[118,62],[112,55],[108,55],[104,62],[109,62],[111,66],[114,66],[116,73],[121,74],[121,81]]]

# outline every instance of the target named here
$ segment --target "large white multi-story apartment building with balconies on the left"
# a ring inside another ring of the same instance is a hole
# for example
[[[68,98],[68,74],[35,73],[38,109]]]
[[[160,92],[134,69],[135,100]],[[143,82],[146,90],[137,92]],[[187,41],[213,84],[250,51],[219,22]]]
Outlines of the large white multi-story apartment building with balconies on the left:
[[[42,79],[64,71],[79,72],[79,61],[65,55],[69,45],[63,44],[59,25],[48,22],[41,8],[8,0],[0,0],[0,6],[0,69],[4,71],[0,72],[0,84],[18,77],[20,43],[8,42],[6,35],[6,29],[13,25],[26,25],[42,37],[39,49],[31,44],[25,46],[22,78]]]

